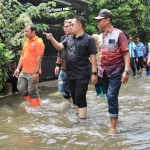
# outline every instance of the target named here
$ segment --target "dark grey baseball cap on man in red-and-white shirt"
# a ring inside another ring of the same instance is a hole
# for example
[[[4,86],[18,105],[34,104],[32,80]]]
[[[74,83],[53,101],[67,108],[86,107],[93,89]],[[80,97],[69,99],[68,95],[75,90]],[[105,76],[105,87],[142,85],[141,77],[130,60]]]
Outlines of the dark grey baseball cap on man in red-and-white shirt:
[[[103,19],[103,18],[113,18],[113,13],[108,9],[102,9],[97,17],[94,17],[94,19]]]

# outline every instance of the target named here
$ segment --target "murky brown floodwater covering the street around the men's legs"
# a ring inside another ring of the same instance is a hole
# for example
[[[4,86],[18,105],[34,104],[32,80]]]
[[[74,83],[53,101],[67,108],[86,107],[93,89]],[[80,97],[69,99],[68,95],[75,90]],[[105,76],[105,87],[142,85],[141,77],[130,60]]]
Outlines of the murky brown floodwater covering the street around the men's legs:
[[[117,134],[108,135],[107,100],[87,93],[86,122],[57,92],[40,87],[40,108],[19,94],[0,99],[0,150],[149,150],[150,78],[130,77],[119,94]]]

